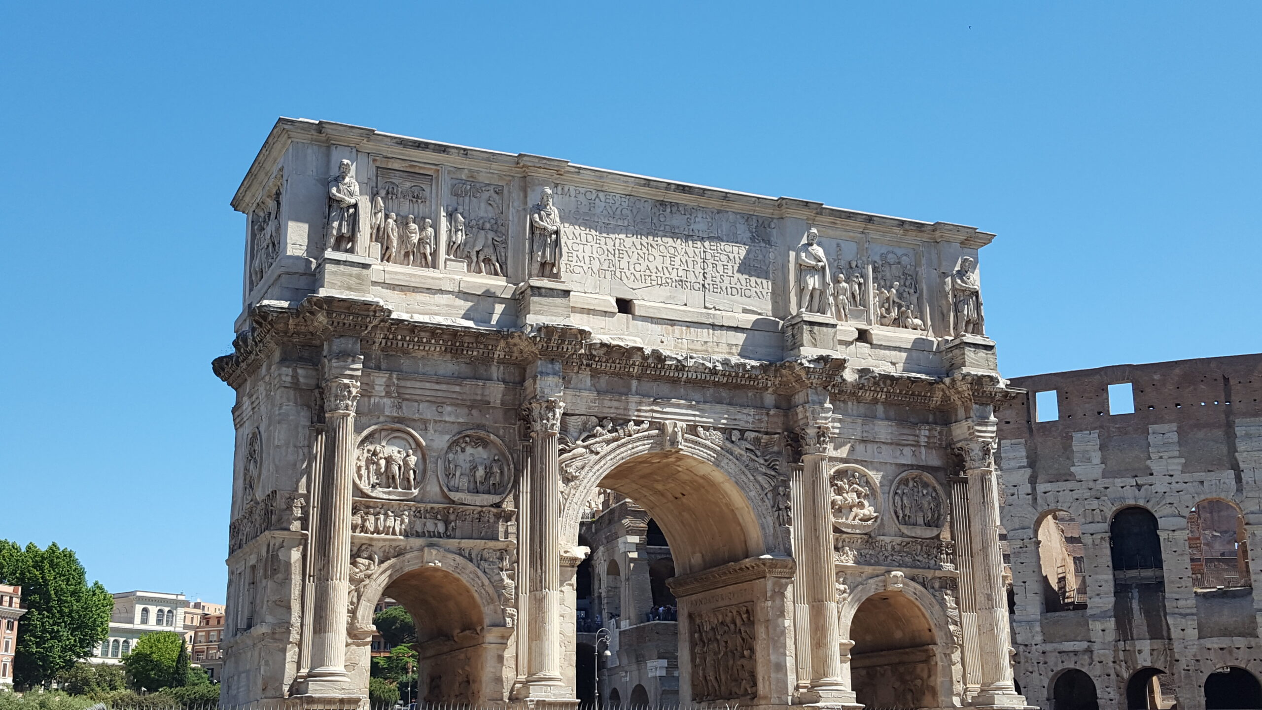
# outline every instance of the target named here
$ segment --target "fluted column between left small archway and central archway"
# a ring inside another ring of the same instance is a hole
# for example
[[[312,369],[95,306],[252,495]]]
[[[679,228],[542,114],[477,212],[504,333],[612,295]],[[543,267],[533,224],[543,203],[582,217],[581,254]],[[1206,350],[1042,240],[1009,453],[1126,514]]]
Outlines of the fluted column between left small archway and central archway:
[[[530,428],[530,565],[528,686],[562,686],[560,673],[560,414],[555,397],[536,397],[522,414]],[[533,691],[534,692],[534,691]]]

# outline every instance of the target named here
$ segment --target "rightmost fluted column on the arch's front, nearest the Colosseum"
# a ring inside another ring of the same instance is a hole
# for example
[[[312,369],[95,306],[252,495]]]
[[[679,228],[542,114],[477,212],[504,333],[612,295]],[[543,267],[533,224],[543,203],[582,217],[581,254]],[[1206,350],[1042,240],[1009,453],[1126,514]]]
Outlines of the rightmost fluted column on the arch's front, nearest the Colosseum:
[[[978,706],[1023,706],[1016,694],[1008,649],[1007,590],[1003,586],[1003,555],[1000,551],[1000,486],[994,470],[993,441],[972,438],[957,446],[968,479],[968,512],[972,538],[973,594],[981,662]]]

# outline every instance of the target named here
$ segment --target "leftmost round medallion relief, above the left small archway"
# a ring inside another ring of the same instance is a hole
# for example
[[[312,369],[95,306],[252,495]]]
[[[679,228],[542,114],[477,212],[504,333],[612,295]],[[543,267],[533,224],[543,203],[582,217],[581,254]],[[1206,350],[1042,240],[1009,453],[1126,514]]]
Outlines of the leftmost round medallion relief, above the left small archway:
[[[425,443],[398,424],[381,424],[363,433],[355,452],[355,485],[374,498],[406,500],[416,495],[425,476]]]

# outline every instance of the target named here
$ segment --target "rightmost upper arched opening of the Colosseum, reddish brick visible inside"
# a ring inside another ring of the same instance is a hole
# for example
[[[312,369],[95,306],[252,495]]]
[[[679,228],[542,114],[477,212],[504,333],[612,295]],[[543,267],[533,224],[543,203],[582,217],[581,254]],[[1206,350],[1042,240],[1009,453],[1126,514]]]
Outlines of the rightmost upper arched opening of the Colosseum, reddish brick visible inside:
[[[1188,553],[1198,590],[1252,586],[1244,515],[1232,503],[1209,498],[1188,513]]]

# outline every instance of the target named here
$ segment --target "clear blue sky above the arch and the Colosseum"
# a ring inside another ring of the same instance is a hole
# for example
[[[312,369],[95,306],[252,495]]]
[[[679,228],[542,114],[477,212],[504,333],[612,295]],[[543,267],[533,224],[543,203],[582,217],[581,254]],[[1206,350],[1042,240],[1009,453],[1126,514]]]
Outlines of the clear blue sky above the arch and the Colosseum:
[[[1259,3],[10,3],[0,538],[222,601],[278,116],[976,225],[1005,374],[1262,350]]]

